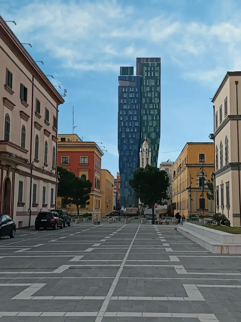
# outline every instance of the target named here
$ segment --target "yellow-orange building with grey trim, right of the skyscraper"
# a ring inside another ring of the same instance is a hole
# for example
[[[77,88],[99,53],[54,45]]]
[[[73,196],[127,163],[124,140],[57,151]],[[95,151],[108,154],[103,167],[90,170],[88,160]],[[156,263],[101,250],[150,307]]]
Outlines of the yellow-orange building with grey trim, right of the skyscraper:
[[[202,175],[205,183],[211,179],[213,172],[214,144],[209,142],[186,143],[172,168],[173,203],[176,204],[175,212],[179,212],[181,215],[184,214],[185,217],[188,217],[188,215],[201,216],[202,210],[204,210],[204,215],[214,213],[214,202],[207,198],[208,188],[204,187],[202,198]]]

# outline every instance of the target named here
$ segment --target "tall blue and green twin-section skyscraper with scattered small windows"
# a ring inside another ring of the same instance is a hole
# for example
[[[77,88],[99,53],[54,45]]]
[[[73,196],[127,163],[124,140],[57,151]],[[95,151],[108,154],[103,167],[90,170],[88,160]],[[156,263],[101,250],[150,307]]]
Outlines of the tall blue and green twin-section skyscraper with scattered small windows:
[[[147,137],[151,165],[157,166],[160,143],[160,58],[137,58],[133,67],[121,67],[118,87],[118,151],[121,176],[121,206],[138,205],[129,186],[139,167],[139,150]]]

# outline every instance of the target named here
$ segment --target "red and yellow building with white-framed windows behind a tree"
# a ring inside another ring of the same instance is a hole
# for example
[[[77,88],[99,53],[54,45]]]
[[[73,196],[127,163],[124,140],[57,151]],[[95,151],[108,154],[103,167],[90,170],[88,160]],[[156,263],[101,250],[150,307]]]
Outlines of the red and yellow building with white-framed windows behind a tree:
[[[57,164],[92,182],[90,204],[81,205],[80,214],[92,213],[93,217],[101,216],[101,157],[102,150],[95,142],[83,142],[76,134],[58,134]],[[66,208],[67,207],[67,208]],[[67,209],[77,214],[75,205],[65,206],[58,198],[58,208]]]

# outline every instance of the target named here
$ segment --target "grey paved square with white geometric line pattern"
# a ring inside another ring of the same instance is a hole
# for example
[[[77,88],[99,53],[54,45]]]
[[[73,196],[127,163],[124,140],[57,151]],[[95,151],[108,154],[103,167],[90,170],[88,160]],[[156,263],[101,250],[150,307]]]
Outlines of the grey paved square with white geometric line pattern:
[[[241,255],[173,225],[18,230],[0,248],[0,322],[241,322]]]

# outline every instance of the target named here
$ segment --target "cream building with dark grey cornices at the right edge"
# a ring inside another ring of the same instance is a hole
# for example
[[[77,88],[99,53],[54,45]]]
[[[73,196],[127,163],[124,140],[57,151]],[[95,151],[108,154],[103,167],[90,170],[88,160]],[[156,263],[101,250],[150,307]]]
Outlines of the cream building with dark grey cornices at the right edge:
[[[241,71],[227,72],[213,99],[215,145],[215,206],[231,226],[241,213]]]

